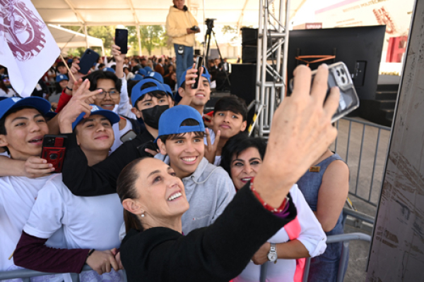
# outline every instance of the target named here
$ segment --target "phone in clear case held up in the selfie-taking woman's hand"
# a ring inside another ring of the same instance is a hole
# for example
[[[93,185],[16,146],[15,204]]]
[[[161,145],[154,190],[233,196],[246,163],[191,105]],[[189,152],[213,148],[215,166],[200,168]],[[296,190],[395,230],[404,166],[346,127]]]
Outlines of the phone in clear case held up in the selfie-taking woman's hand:
[[[317,74],[317,70],[312,71],[312,82]],[[311,82],[311,83],[312,83]],[[327,80],[327,93],[326,97],[330,94],[331,87],[337,86],[340,89],[340,99],[338,101],[338,109],[331,122],[334,123],[339,118],[343,118],[351,111],[355,110],[359,106],[359,97],[356,93],[355,87],[353,86],[351,73],[348,71],[348,67],[343,62],[333,63],[329,65],[329,78]],[[293,79],[289,82],[289,92],[293,92]]]

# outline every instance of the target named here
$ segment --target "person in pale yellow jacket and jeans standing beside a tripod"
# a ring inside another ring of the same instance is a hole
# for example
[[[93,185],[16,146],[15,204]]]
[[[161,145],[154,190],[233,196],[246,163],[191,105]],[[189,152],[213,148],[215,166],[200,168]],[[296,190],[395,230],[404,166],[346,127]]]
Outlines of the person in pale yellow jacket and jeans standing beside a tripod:
[[[194,34],[200,32],[199,23],[184,5],[185,0],[173,0],[174,6],[166,18],[166,32],[172,38],[177,57],[177,81],[193,65]]]

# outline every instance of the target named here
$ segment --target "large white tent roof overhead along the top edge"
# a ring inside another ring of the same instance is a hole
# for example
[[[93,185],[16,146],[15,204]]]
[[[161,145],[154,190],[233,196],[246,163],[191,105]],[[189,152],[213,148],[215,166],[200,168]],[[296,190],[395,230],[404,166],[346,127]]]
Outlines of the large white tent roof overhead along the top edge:
[[[306,0],[290,0],[290,19]],[[171,0],[32,0],[47,24],[80,25],[87,35],[88,25],[164,25]],[[186,0],[199,25],[215,18],[216,25],[258,25],[257,0]],[[269,8],[279,11],[280,1],[269,0]],[[137,29],[139,31],[139,29]],[[138,34],[140,38],[140,35]],[[141,42],[139,40],[139,45]],[[141,48],[140,48],[141,51]]]

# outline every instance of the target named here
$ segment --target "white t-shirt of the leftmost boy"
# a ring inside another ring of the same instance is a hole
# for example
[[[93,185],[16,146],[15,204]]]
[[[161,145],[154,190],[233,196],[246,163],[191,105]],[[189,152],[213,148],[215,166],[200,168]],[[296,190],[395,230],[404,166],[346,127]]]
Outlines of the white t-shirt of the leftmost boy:
[[[0,271],[19,268],[13,264],[13,259],[8,260],[8,257],[12,255],[18,244],[38,192],[51,177],[31,179],[23,176],[5,176],[0,178]],[[46,243],[49,247],[61,245],[60,234],[51,239]]]

